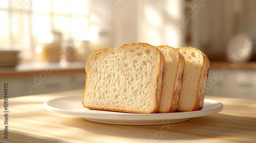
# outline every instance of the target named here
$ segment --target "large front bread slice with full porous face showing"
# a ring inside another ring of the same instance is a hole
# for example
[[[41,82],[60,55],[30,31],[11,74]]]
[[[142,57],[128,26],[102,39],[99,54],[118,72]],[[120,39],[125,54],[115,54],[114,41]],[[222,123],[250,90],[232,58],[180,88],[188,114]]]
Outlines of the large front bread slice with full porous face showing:
[[[86,62],[86,108],[130,113],[156,113],[165,59],[146,43],[100,49]]]

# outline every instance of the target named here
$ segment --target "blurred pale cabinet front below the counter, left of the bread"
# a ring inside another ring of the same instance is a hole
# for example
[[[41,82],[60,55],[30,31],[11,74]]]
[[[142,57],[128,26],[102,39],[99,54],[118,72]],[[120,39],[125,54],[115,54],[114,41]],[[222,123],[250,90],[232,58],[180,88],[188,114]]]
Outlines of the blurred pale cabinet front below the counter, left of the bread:
[[[38,74],[1,77],[0,90],[8,83],[9,97],[27,96],[30,94],[50,93],[66,90],[83,89],[85,86],[85,71],[53,72],[46,77]],[[4,98],[3,96],[0,98]]]

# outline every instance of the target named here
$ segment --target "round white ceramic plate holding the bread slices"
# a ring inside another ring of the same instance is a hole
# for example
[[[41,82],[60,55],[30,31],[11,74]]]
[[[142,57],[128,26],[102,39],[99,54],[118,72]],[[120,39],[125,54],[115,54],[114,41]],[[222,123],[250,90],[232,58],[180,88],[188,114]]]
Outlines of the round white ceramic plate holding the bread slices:
[[[46,101],[44,107],[55,113],[83,117],[86,120],[99,123],[118,125],[160,125],[183,122],[192,117],[218,113],[223,109],[223,104],[205,99],[203,109],[200,111],[134,114],[84,108],[82,106],[82,95],[79,94]]]

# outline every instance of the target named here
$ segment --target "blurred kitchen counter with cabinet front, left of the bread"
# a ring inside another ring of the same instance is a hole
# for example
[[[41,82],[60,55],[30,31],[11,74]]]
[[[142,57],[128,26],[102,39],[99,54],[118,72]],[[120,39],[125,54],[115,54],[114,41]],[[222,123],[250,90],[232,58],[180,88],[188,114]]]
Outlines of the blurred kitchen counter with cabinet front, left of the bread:
[[[0,85],[9,84],[11,97],[84,88],[85,62],[31,62],[0,67]],[[0,86],[0,91],[4,87]],[[4,98],[0,96],[0,99]]]

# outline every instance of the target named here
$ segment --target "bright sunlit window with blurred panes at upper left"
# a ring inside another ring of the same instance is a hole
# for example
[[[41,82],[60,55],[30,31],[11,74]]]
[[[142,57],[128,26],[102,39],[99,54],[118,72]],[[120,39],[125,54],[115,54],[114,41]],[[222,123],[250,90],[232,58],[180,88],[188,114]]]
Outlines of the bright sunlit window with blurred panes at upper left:
[[[35,47],[51,31],[63,40],[89,31],[86,0],[1,0],[0,50],[19,50],[35,59]]]

